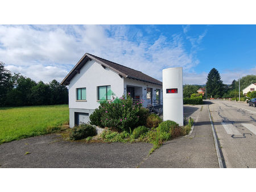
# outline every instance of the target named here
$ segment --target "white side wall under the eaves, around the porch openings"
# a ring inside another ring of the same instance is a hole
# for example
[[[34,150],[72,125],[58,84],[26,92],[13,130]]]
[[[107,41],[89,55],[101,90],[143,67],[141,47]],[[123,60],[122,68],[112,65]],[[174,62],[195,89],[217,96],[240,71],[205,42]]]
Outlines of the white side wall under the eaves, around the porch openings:
[[[143,107],[147,107],[147,103],[150,102],[150,99],[148,99],[148,101],[146,99],[147,98],[147,87],[152,88],[152,97],[153,97],[152,100],[156,99],[156,91],[155,91],[156,89],[160,89],[160,100],[163,99],[163,92],[162,92],[163,87],[161,85],[150,84],[150,83],[143,82],[143,81],[137,81],[137,80],[131,80],[129,78],[125,78],[124,79],[124,86],[123,86],[123,88],[125,88],[124,89],[125,94],[126,94],[126,86],[127,85],[128,86],[129,85],[131,85],[131,86],[142,86],[142,95],[141,95],[142,97],[141,97],[141,99],[144,100]],[[137,93],[135,91],[135,95],[136,94]]]

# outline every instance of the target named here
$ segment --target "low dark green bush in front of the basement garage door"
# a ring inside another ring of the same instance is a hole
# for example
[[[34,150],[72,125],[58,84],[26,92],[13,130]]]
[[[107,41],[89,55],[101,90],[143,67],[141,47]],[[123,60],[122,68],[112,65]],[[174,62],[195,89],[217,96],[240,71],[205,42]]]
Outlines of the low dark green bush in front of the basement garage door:
[[[85,123],[81,123],[79,126],[73,128],[70,139],[71,140],[80,140],[85,139],[89,136],[97,135],[96,128]]]

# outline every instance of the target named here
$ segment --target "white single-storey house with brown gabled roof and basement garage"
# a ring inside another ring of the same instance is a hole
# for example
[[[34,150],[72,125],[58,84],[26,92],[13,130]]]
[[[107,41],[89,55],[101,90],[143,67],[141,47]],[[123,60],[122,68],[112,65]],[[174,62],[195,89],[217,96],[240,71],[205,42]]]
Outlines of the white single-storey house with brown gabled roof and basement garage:
[[[162,102],[162,82],[115,62],[85,53],[61,85],[69,87],[69,127],[89,122],[100,101],[131,93],[143,107]]]

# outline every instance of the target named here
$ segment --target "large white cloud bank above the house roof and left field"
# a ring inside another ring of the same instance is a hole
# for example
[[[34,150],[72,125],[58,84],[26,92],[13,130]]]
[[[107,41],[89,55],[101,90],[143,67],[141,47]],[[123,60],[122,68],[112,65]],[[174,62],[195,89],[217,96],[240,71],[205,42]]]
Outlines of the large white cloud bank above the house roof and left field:
[[[197,45],[205,34],[197,37]],[[0,58],[11,72],[36,81],[63,80],[85,52],[162,80],[163,68],[182,66],[191,73],[199,64],[195,50],[186,50],[184,41],[177,34],[148,41],[140,30],[130,32],[127,26],[0,26]]]

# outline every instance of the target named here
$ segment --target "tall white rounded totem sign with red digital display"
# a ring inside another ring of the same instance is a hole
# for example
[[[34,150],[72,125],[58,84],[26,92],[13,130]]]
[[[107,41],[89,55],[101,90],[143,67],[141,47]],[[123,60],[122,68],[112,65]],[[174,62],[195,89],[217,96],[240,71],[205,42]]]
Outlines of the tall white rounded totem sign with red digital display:
[[[183,126],[182,68],[163,69],[163,120]]]

